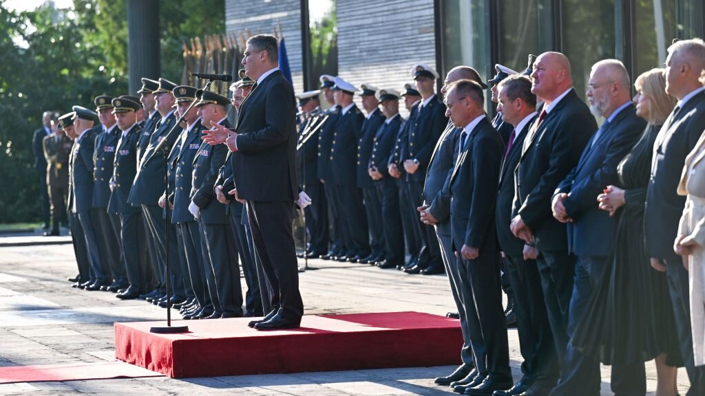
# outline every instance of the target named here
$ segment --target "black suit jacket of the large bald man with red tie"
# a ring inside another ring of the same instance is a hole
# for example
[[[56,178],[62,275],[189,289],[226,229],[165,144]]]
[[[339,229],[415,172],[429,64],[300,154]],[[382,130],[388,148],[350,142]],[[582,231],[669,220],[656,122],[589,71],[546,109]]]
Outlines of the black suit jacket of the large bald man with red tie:
[[[566,250],[565,224],[553,218],[551,197],[558,183],[577,165],[597,123],[575,89],[571,89],[544,116],[538,130],[534,129],[529,129],[515,171],[513,216],[522,216],[537,238],[539,249]]]

